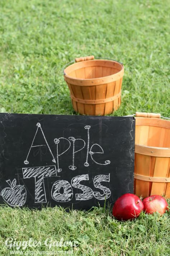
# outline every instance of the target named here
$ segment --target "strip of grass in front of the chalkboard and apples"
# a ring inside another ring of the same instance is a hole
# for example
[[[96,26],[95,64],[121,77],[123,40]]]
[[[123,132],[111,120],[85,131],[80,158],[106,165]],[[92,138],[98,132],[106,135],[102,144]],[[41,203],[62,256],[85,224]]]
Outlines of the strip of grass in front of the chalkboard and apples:
[[[170,255],[170,212],[146,215],[142,213],[134,221],[117,221],[109,209],[95,207],[93,211],[65,212],[62,208],[30,211],[0,208],[0,255],[10,255],[5,246],[9,237],[15,241],[40,241],[40,247],[23,250],[73,251],[73,255]],[[46,246],[52,242],[71,241],[76,247]],[[10,244],[10,243],[9,243]],[[22,251],[22,247],[19,251]]]

